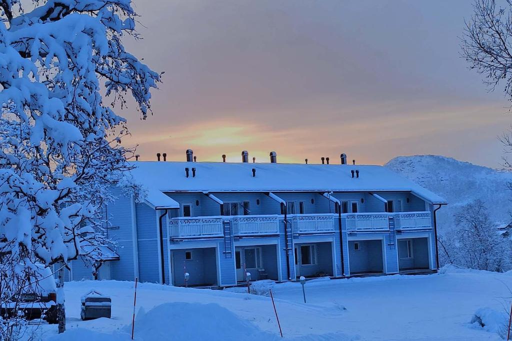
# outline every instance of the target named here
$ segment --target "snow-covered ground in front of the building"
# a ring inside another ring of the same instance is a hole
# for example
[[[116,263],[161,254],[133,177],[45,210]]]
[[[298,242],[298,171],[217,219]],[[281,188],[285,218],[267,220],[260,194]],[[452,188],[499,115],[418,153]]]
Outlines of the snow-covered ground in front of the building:
[[[253,287],[263,295],[243,293],[244,288],[220,291],[143,283],[137,293],[143,311],[137,317],[136,338],[279,339],[270,298],[264,295],[271,287],[286,339],[499,340],[496,333],[470,321],[479,308],[502,311],[512,295],[507,286],[512,288],[510,274],[456,269],[427,276],[321,279],[307,282],[304,304],[298,283],[258,282]],[[101,339],[92,332],[109,334],[103,335],[105,340],[129,339],[125,333],[132,319],[133,283],[84,281],[66,287],[68,332],[54,337],[55,326],[42,326],[43,339]],[[111,320],[80,321],[80,296],[92,288],[112,297]],[[160,311],[150,311],[164,303]],[[209,303],[214,305],[201,305]]]

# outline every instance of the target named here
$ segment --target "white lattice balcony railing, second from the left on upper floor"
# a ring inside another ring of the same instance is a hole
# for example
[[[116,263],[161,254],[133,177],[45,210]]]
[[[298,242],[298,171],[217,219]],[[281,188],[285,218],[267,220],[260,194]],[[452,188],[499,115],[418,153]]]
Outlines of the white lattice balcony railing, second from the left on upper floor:
[[[233,216],[234,235],[272,235],[279,234],[279,216]]]

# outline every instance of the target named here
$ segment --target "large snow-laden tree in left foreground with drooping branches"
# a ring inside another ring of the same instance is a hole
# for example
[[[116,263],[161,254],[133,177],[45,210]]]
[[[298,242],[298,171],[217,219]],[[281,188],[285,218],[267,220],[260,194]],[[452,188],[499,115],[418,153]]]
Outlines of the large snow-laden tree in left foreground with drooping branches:
[[[130,93],[145,118],[161,74],[123,47],[123,35],[138,38],[131,0],[26,4],[0,0],[0,255],[21,265],[1,275],[56,265],[62,332],[63,271],[101,253],[99,208],[130,169],[113,107]]]

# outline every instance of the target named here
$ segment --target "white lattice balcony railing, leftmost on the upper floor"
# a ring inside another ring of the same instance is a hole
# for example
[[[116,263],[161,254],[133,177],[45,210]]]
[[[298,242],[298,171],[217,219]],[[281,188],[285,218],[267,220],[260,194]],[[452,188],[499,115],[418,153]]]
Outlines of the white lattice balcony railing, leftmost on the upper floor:
[[[220,237],[221,217],[179,217],[169,220],[170,236],[174,238]]]

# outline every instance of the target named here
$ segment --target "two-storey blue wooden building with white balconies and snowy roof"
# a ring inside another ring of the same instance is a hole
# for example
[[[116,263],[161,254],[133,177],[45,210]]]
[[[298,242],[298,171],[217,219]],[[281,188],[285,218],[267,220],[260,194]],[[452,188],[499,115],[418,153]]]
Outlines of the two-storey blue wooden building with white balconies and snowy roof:
[[[436,211],[447,202],[382,166],[134,162],[145,202],[106,208],[116,257],[100,279],[234,286],[436,271]],[[185,276],[187,274],[187,276]],[[91,278],[75,261],[71,278]],[[185,283],[187,277],[187,283]]]

